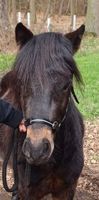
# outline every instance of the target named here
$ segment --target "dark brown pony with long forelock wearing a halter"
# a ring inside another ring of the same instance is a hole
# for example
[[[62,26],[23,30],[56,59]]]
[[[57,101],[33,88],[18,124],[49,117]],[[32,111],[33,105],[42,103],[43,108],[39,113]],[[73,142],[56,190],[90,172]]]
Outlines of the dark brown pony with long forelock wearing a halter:
[[[82,25],[66,35],[33,35],[21,23],[16,27],[20,50],[0,91],[27,120],[27,133],[18,139],[18,191],[13,199],[38,200],[49,193],[57,200],[74,198],[83,168],[84,125],[74,103],[73,78],[78,84],[82,79],[73,55],[84,30]],[[12,130],[1,125],[2,158],[11,136]]]

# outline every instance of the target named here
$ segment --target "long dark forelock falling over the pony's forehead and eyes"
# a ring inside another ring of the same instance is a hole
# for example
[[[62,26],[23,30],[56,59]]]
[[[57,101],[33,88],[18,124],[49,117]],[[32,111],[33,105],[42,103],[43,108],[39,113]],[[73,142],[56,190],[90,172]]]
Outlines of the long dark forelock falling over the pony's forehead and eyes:
[[[28,90],[38,84],[42,86],[43,82],[47,83],[49,79],[54,80],[53,72],[63,73],[67,68],[76,81],[82,83],[82,77],[73,59],[72,45],[60,33],[33,36],[20,50],[13,68],[24,89]]]

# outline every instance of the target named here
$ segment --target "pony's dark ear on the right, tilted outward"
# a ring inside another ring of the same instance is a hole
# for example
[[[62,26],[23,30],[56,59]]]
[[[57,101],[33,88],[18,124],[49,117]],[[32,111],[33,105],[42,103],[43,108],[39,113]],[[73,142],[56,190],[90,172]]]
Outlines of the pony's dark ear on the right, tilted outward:
[[[85,25],[83,24],[76,31],[67,33],[65,35],[71,41],[74,53],[79,49],[84,32],[85,32]]]

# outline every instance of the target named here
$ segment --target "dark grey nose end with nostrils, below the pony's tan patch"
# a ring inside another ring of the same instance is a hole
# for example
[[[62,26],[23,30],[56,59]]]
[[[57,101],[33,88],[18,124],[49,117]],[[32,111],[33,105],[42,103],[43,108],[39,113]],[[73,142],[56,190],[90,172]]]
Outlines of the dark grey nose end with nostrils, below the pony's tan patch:
[[[30,164],[40,164],[48,160],[51,152],[50,142],[44,138],[38,143],[32,143],[26,138],[22,147],[23,154]]]

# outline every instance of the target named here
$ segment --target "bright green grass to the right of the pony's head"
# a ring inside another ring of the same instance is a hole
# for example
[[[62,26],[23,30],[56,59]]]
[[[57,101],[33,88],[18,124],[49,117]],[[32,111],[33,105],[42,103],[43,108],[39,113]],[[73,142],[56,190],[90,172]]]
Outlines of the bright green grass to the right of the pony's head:
[[[87,119],[99,116],[99,53],[90,53],[76,57],[84,81],[84,91],[78,90],[77,96],[80,111]]]

